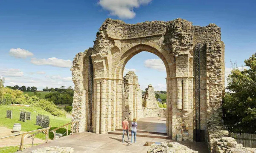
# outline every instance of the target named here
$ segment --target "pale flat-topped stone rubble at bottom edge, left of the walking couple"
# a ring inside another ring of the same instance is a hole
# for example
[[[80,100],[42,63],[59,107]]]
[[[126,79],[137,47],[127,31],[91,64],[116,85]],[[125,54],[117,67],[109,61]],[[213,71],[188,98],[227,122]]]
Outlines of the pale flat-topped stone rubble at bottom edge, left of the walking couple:
[[[32,150],[31,153],[74,153],[74,148],[72,147],[44,147]]]

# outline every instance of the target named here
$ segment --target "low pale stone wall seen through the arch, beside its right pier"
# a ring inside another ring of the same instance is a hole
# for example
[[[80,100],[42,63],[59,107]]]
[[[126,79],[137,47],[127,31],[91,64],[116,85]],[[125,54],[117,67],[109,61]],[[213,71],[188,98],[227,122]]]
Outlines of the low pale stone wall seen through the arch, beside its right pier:
[[[143,107],[144,117],[166,117],[166,108],[145,108]]]

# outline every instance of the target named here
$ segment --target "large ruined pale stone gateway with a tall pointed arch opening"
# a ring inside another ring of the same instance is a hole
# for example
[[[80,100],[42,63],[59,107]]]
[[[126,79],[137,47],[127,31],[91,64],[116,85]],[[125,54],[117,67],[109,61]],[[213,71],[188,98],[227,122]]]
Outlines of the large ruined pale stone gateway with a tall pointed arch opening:
[[[79,132],[88,131],[89,124],[94,133],[102,134],[121,127],[124,66],[141,51],[156,54],[166,67],[169,136],[193,141],[194,130],[206,130],[207,120],[221,107],[224,94],[224,43],[218,26],[192,26],[183,19],[137,24],[106,19],[96,37],[93,48],[77,54],[71,68],[75,84],[72,116],[79,120]],[[88,115],[92,117],[90,123]]]

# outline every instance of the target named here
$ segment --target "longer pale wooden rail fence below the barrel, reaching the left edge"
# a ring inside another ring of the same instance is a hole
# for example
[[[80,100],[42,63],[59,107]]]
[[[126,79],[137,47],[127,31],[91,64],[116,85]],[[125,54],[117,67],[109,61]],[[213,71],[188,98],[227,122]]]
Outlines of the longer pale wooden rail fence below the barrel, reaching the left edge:
[[[24,132],[24,133],[17,133],[15,135],[12,135],[12,136],[5,136],[3,138],[0,138],[0,139],[6,139],[6,138],[11,138],[11,137],[15,137],[15,136],[20,136],[21,135],[21,141],[20,141],[20,148],[19,148],[19,151],[23,151],[23,148],[24,148],[24,139],[26,139],[27,137],[30,138],[32,137],[32,140],[34,140],[34,136],[37,135],[38,133],[41,133],[41,132],[44,132],[45,133],[45,142],[48,143],[48,139],[49,139],[49,129],[51,127],[45,127],[45,128],[42,128],[42,129],[38,129],[38,130],[32,130],[32,131],[29,131],[29,132]],[[35,132],[35,133],[34,133]],[[34,133],[32,134],[31,136],[29,136],[29,134],[31,133]],[[33,141],[34,142],[34,141]],[[33,142],[32,142],[32,146],[33,146]]]

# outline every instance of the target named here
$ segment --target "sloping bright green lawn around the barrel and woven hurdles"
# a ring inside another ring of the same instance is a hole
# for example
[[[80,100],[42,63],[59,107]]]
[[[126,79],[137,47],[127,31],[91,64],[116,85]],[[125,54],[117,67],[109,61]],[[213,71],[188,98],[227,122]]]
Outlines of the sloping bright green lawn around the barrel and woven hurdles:
[[[6,110],[12,110],[12,119],[6,118]],[[30,121],[26,120],[26,122],[19,121],[20,111],[31,112],[31,120]],[[42,128],[41,126],[35,125],[36,116],[38,113],[50,116],[50,126],[52,126],[50,128],[50,130],[71,122],[71,119],[66,119],[66,118],[58,117],[58,116],[52,116],[49,112],[44,111],[43,109],[38,108],[38,107],[20,107],[20,106],[0,105],[0,126],[12,129],[14,123],[20,123],[22,131],[32,131],[32,130],[41,129]],[[65,133],[65,132],[66,132],[65,128],[61,128],[61,129],[57,130],[57,133]],[[69,132],[70,132],[70,127],[69,127]],[[40,139],[45,139],[45,134],[39,133],[35,137],[40,138]],[[53,139],[52,132],[49,132],[49,139]]]

